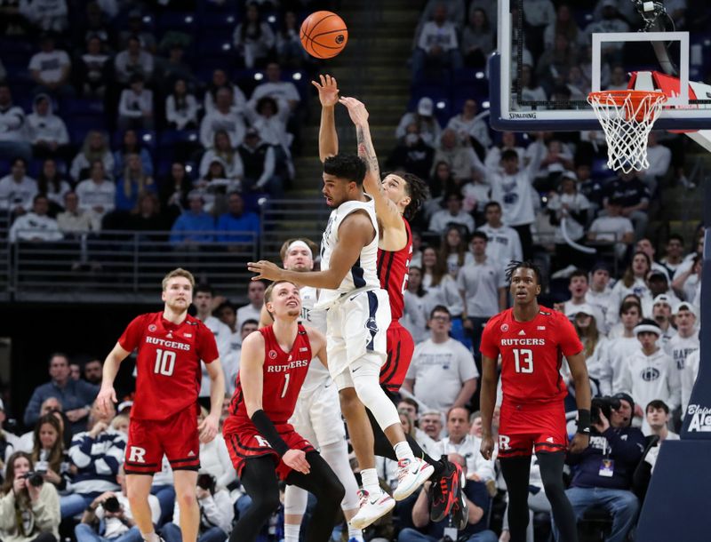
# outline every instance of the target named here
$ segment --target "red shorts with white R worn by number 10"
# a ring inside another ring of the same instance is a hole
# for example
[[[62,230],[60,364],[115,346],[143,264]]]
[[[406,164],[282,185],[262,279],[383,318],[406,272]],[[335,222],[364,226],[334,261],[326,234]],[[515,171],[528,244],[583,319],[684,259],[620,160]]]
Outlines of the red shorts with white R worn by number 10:
[[[173,470],[200,468],[196,405],[167,419],[132,418],[124,462],[126,474],[160,472],[164,454]]]

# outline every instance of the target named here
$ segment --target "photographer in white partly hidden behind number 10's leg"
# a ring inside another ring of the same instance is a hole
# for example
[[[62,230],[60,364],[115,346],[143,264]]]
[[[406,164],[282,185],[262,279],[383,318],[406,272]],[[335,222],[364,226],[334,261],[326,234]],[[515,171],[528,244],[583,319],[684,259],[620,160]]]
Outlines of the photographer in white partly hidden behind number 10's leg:
[[[229,498],[228,490],[216,488],[212,474],[197,476],[197,504],[200,506],[200,527],[197,542],[225,542],[232,531],[235,508]],[[166,523],[161,530],[165,542],[182,542],[180,532],[180,503],[175,502],[172,522]],[[81,541],[79,541],[81,542]]]

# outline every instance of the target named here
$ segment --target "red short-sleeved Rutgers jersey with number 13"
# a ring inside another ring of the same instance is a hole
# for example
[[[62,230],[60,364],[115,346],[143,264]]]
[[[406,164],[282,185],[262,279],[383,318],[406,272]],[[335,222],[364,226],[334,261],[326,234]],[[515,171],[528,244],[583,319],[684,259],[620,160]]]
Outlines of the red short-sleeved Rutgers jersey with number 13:
[[[567,390],[560,374],[563,355],[575,355],[583,346],[563,313],[539,307],[531,322],[516,322],[514,309],[494,316],[482,335],[481,352],[501,355],[501,387],[505,401],[551,403],[563,400]]]

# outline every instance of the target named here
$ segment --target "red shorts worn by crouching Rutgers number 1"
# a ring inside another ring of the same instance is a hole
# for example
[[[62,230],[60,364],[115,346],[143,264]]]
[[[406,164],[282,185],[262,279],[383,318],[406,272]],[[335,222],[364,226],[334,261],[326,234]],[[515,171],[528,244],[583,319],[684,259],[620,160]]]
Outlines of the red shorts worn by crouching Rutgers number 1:
[[[286,480],[292,472],[290,466],[286,466],[279,454],[269,445],[257,428],[254,426],[235,426],[230,424],[230,418],[225,421],[222,434],[225,436],[225,443],[228,445],[229,458],[235,466],[237,476],[242,475],[244,465],[251,458],[261,458],[270,456],[276,465],[276,475],[280,480]],[[276,431],[284,439],[286,445],[292,450],[314,451],[314,447],[303,436],[294,431],[289,424],[275,424]]]

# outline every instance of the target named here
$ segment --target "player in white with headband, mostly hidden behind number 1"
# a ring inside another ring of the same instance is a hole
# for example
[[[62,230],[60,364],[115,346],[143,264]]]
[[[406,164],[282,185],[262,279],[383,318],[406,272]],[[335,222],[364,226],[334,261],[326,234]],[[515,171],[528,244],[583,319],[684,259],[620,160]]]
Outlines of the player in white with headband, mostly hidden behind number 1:
[[[313,248],[316,245],[308,239],[289,239],[282,245],[280,256],[284,269],[311,271],[314,268]],[[300,323],[326,332],[326,311],[315,309],[318,290],[311,286],[300,287]],[[260,327],[274,322],[267,307],[262,307]],[[311,363],[304,384],[301,386],[296,408],[289,419],[294,430],[319,451],[326,463],[339,477],[346,489],[346,496],[340,504],[343,515],[350,519],[358,512],[356,476],[348,460],[346,430],[340,417],[339,393],[328,369],[323,363]],[[287,485],[284,492],[284,542],[299,542],[301,520],[306,512],[308,491],[295,485]],[[363,532],[348,528],[348,541],[363,542]]]

